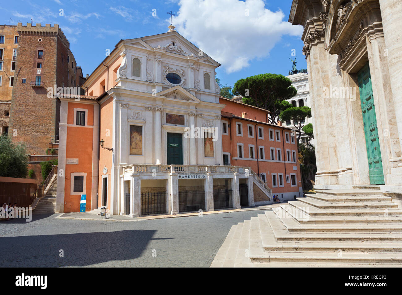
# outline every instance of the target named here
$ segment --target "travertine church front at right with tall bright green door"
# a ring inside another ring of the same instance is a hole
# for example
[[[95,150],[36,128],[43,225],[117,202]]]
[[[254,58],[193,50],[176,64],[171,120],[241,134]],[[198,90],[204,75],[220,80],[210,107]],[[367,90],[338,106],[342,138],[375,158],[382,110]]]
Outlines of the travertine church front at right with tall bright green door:
[[[402,5],[293,0],[304,27],[317,189],[379,186],[402,194]]]

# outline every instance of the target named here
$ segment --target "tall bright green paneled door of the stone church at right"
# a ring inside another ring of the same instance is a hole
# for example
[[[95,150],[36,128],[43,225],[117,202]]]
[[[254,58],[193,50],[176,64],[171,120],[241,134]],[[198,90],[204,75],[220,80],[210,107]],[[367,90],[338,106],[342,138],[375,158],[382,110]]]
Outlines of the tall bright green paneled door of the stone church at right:
[[[384,184],[384,171],[382,169],[381,150],[379,148],[377,118],[375,117],[369,63],[357,73],[357,79],[359,83],[361,111],[363,114],[370,183]]]

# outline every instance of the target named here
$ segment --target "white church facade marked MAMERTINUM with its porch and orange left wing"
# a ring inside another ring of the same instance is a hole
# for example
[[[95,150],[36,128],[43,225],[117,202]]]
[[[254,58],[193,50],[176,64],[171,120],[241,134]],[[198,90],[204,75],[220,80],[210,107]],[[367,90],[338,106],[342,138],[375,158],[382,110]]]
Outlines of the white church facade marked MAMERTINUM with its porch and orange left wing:
[[[223,163],[219,65],[174,26],[121,40],[86,96],[60,98],[57,212],[81,195],[86,211],[131,217],[240,208],[254,186],[272,201],[252,169]]]

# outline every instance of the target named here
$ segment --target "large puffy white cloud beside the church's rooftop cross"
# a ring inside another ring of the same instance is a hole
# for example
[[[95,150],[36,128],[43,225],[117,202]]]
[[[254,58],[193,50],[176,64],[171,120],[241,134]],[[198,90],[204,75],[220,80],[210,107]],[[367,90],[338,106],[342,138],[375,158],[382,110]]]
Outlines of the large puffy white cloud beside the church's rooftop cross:
[[[283,35],[302,33],[301,26],[283,20],[281,10],[266,9],[262,0],[180,0],[179,6],[173,21],[176,30],[221,63],[227,73],[267,57]]]

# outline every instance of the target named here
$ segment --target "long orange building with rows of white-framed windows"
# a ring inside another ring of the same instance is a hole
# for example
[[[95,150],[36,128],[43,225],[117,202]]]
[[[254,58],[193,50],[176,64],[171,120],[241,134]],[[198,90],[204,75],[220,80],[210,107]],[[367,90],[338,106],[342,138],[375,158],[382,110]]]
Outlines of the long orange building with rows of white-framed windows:
[[[220,97],[224,165],[250,166],[279,199],[301,197],[297,144],[292,129],[268,123],[269,111]],[[256,193],[254,201],[258,205]]]

